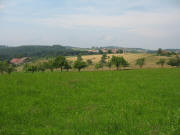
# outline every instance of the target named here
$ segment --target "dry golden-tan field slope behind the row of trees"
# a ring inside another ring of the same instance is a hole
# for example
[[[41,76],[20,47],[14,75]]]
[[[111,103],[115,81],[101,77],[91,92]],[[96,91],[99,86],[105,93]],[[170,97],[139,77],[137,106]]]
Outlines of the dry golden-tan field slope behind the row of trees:
[[[111,58],[112,55],[116,55],[116,56],[123,56],[130,64],[130,69],[137,69],[139,68],[139,66],[136,66],[136,60],[138,58],[143,58],[145,57],[145,65],[143,66],[143,68],[160,68],[160,65],[157,65],[156,63],[159,61],[159,59],[163,58],[166,60],[166,62],[175,56],[172,57],[167,57],[167,56],[156,56],[155,54],[147,54],[147,53],[140,53],[140,54],[135,54],[135,53],[126,53],[126,54],[108,54],[108,56]],[[88,59],[91,59],[93,61],[93,65],[88,66],[87,68],[83,69],[84,71],[94,71],[95,69],[95,64],[98,63],[102,57],[102,55],[85,55],[82,56],[84,61],[87,61]],[[68,60],[70,61],[75,61],[77,59],[77,57],[75,56],[70,56],[67,57]],[[47,61],[46,59],[38,59],[35,61],[35,63],[39,63],[39,62],[45,62]],[[171,66],[165,64],[164,65],[165,68],[171,68]],[[23,66],[20,66],[17,68],[17,71],[22,71]],[[74,71],[75,69],[72,69],[72,71]],[[103,69],[99,69],[99,70],[109,70],[108,67],[104,67]],[[112,67],[111,70],[116,70],[116,67]]]

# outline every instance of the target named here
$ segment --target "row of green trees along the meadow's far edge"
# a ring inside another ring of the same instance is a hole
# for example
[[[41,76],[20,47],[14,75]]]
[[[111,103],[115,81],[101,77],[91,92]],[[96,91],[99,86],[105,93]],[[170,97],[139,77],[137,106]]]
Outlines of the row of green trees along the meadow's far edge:
[[[136,60],[136,65],[139,66],[139,68],[143,68],[143,66],[146,63],[146,58],[139,58]],[[170,66],[176,66],[180,67],[180,57],[176,55],[175,58],[171,58],[168,61],[166,59],[159,59],[156,64],[163,67],[165,64],[168,64]],[[77,71],[81,71],[82,69],[93,65],[93,61],[88,59],[86,61],[83,60],[81,55],[77,56],[77,59],[73,61],[69,61],[66,59],[65,56],[57,56],[54,59],[49,59],[46,62],[39,62],[37,64],[35,63],[26,63],[23,66],[23,71],[25,72],[44,72],[46,70],[50,70],[53,72],[54,70],[60,70],[61,72],[63,70],[69,71],[70,69],[74,68],[77,69]],[[100,61],[94,64],[94,68],[96,70],[103,69],[104,67],[108,67],[111,69],[113,66],[116,67],[116,70],[129,67],[128,61],[122,57],[122,56],[112,56],[111,58],[107,56],[106,54],[103,54]],[[8,61],[0,61],[0,73],[8,73],[16,71],[16,67]]]

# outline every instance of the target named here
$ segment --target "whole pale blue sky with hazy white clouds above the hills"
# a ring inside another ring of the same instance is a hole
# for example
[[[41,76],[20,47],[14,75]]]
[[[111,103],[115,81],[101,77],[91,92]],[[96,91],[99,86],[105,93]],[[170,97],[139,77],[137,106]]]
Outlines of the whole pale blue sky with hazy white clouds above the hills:
[[[0,45],[180,49],[180,0],[0,0]]]

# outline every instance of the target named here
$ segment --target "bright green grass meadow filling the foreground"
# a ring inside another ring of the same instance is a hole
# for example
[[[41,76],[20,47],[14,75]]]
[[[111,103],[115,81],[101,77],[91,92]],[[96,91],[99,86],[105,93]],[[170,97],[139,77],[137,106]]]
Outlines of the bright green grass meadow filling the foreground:
[[[179,135],[180,69],[0,75],[0,135]]]

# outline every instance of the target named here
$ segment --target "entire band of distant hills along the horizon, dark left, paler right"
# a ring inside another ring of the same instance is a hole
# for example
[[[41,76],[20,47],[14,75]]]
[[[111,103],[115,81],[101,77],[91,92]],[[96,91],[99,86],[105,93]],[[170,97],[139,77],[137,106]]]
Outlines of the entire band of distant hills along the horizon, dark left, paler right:
[[[142,48],[124,48],[118,46],[106,46],[94,48],[96,50],[106,49],[125,49],[125,52],[130,53],[156,53],[156,50],[148,50]],[[16,47],[8,47],[0,45],[0,60],[10,60],[18,57],[55,57],[57,55],[74,56],[78,54],[87,55],[93,54],[88,52],[90,48],[79,48],[62,45],[24,45]],[[167,51],[180,53],[180,49],[166,49]]]

